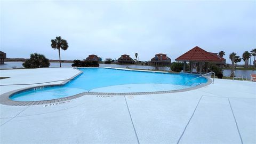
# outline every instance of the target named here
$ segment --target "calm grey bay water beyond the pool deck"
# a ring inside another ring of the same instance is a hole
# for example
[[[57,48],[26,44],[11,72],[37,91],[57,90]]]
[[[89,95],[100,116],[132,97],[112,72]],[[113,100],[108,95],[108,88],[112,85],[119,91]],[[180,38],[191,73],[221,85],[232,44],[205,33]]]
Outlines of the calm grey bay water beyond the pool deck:
[[[13,67],[16,68],[23,68],[22,66],[23,62],[5,62],[4,65],[0,65],[0,69],[11,69]],[[72,63],[67,63],[67,62],[62,62],[61,66],[62,67],[71,67]],[[59,67],[60,64],[58,62],[51,62],[50,67]],[[116,64],[100,64],[100,67],[115,67],[115,68],[137,68],[137,69],[156,69],[156,67],[153,66],[140,66],[140,65],[116,65]],[[166,67],[158,67],[159,70],[168,70]],[[230,69],[224,69],[223,70],[223,75],[224,76],[229,76],[231,73]],[[235,70],[235,76],[236,77],[247,77],[251,78],[251,74],[256,74],[256,70]]]

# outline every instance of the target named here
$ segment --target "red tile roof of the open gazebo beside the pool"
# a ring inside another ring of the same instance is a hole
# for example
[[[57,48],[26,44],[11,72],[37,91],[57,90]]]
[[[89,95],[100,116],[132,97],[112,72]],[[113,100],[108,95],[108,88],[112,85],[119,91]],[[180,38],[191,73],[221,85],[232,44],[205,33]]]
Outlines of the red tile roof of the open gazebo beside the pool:
[[[222,61],[222,59],[217,54],[206,52],[196,46],[182,54],[179,58],[175,59],[175,61]]]

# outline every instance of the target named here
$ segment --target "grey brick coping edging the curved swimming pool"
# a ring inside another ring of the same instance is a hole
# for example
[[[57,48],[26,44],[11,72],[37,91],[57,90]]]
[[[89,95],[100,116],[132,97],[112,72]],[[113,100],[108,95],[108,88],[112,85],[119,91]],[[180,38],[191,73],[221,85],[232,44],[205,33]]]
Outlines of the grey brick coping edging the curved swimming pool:
[[[83,67],[81,67],[83,68]],[[86,67],[86,68],[90,68],[90,67]],[[94,68],[94,67],[93,67]],[[109,67],[104,67],[104,68],[109,68]],[[109,69],[119,69],[119,68],[109,68]],[[186,91],[191,91],[191,90],[196,90],[199,88],[202,88],[204,86],[210,85],[212,83],[212,79],[209,77],[205,77],[204,78],[207,79],[207,83],[203,83],[203,84],[199,84],[197,86],[193,86],[193,87],[189,87],[186,89],[180,89],[180,90],[169,90],[169,91],[154,91],[154,92],[119,92],[119,93],[113,93],[113,92],[83,92],[83,93],[78,93],[75,95],[71,95],[69,97],[65,97],[65,98],[59,98],[59,99],[52,99],[52,100],[40,100],[40,101],[14,101],[11,100],[9,97],[15,93],[18,92],[22,92],[22,91],[26,91],[26,90],[30,90],[30,89],[34,89],[36,87],[43,87],[43,86],[62,86],[65,85],[66,83],[68,83],[69,81],[73,80],[74,78],[76,78],[77,76],[81,75],[83,73],[82,70],[79,70],[78,68],[76,68],[76,70],[79,71],[78,74],[72,76],[71,78],[69,78],[68,80],[60,83],[60,84],[48,84],[48,85],[39,85],[39,86],[29,86],[29,87],[25,87],[22,89],[17,89],[17,90],[12,90],[6,93],[3,93],[0,95],[0,104],[1,105],[7,105],[7,106],[33,106],[33,105],[44,105],[47,103],[56,103],[56,101],[58,102],[62,102],[62,101],[67,101],[67,100],[72,100],[72,99],[76,99],[79,97],[82,97],[84,95],[147,95],[147,94],[164,94],[164,93],[177,93],[177,92],[186,92]],[[122,69],[119,69],[122,70]],[[130,69],[124,69],[123,70],[130,70]],[[131,70],[131,71],[143,71],[143,70]],[[159,72],[159,73],[168,73],[168,72],[162,72],[162,71],[148,71],[151,73],[154,72]]]

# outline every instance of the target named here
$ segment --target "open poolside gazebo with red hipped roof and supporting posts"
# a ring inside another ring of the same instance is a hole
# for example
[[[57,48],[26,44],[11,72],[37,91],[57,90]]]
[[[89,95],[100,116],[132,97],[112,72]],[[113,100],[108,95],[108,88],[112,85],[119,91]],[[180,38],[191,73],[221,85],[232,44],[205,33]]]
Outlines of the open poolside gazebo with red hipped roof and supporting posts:
[[[202,66],[205,66],[205,73],[208,73],[209,62],[212,63],[222,63],[223,58],[219,57],[219,55],[211,52],[207,52],[200,47],[196,46],[188,52],[182,54],[179,58],[175,59],[175,61],[183,61],[183,72],[186,73],[186,65],[187,62],[190,63],[190,73],[193,72],[193,64],[197,63],[199,66],[199,74],[202,74]]]

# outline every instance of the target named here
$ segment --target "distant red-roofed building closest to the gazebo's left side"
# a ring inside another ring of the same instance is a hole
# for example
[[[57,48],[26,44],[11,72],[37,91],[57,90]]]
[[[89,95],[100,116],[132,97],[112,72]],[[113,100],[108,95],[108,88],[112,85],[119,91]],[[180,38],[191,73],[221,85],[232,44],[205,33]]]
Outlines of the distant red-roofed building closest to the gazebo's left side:
[[[164,53],[158,53],[149,61],[150,66],[170,66],[171,59]]]

